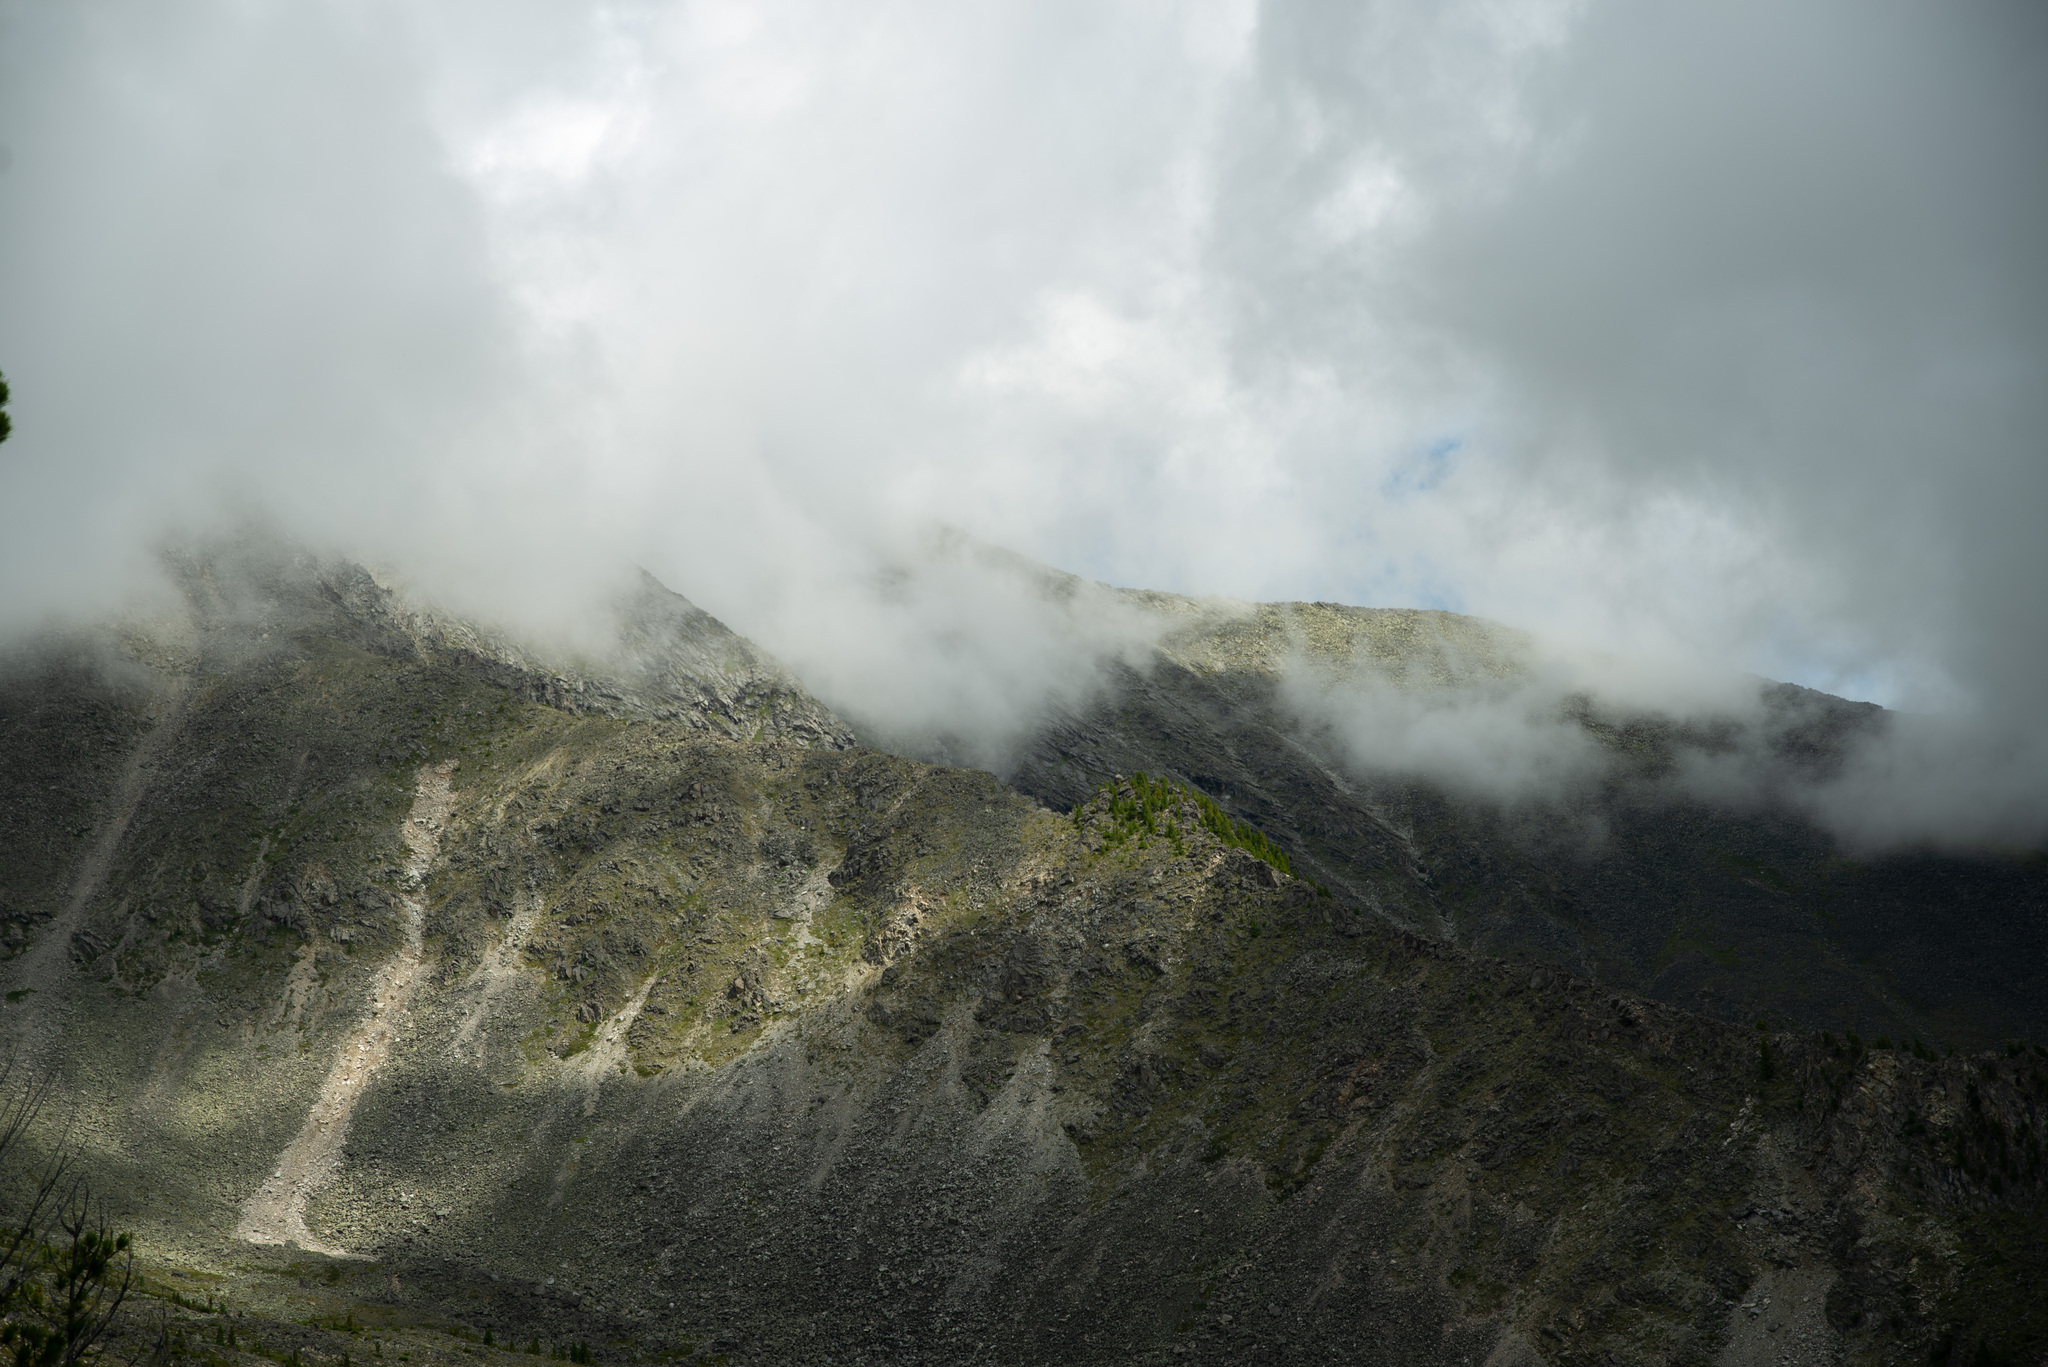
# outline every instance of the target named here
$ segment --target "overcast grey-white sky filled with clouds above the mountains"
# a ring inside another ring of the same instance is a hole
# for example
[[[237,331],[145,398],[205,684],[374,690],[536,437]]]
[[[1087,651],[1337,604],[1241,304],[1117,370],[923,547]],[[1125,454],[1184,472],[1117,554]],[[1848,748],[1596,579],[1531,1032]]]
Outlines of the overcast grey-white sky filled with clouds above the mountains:
[[[2040,4],[0,0],[0,143],[8,625],[262,510],[829,676],[938,519],[2048,754]]]

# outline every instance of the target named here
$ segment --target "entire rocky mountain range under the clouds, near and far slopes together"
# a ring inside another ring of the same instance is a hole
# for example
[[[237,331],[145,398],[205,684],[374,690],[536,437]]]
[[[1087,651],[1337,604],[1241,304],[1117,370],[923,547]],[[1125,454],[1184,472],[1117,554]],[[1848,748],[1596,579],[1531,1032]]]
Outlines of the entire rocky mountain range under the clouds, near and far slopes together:
[[[135,1232],[111,1351],[2048,1361],[2038,853],[1653,801],[1726,736],[1593,705],[1591,853],[1348,773],[1274,641],[1511,656],[1448,615],[1139,596],[1006,783],[651,580],[575,658],[176,570],[0,674],[12,1156]]]

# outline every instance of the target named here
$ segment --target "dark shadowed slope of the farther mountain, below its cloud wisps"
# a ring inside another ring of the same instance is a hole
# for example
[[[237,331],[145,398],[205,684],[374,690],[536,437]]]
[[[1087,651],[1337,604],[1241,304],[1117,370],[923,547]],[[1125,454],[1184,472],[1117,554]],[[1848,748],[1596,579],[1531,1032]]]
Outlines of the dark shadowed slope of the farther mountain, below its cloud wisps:
[[[2048,980],[2030,967],[2048,957],[2048,857],[1855,857],[1800,805],[1798,783],[1876,709],[1776,685],[1749,717],[1677,721],[1565,695],[1546,736],[1583,758],[1487,791],[1360,754],[1272,635],[1266,658],[1169,644],[1147,670],[1108,666],[1108,691],[1049,721],[1012,781],[1073,805],[1118,775],[1174,775],[1397,924],[1731,1021],[1964,1047],[2048,1035]]]

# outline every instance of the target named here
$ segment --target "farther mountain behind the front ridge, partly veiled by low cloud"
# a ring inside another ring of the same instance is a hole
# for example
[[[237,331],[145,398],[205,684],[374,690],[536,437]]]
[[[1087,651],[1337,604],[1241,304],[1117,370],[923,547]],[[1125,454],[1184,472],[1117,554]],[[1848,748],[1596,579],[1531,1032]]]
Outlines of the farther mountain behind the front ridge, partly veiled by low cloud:
[[[1022,793],[1071,807],[1120,775],[1171,775],[1395,924],[1722,1021],[2048,1037],[2048,855],[1866,853],[1800,801],[1884,734],[1880,707],[1757,678],[1690,707],[1616,701],[1485,619],[1114,590],[965,537],[920,570],[963,562],[1077,617],[1151,621],[1018,744],[1004,773]],[[1399,728],[1470,738],[1450,764],[1376,754]],[[1577,769],[1489,783],[1561,758]],[[1716,764],[1739,777],[1686,783]]]

